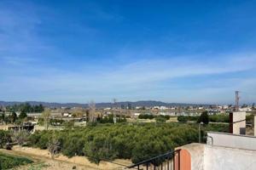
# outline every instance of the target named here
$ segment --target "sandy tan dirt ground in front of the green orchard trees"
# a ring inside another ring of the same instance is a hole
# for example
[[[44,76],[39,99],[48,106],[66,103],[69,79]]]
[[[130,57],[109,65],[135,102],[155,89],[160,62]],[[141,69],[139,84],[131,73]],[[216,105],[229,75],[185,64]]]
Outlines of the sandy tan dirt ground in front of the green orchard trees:
[[[129,160],[115,160],[112,163],[107,161],[101,161],[98,165],[95,163],[91,163],[84,156],[73,156],[72,158],[68,158],[67,156],[57,155],[54,159],[50,158],[48,150],[39,150],[35,148],[29,147],[20,147],[14,146],[13,150],[0,150],[1,152],[17,155],[17,156],[27,156],[32,159],[34,163],[28,166],[22,166],[16,168],[17,170],[25,170],[25,169],[40,169],[42,170],[69,170],[69,169],[78,169],[78,170],[119,170],[124,169],[126,165],[131,165],[131,161]]]

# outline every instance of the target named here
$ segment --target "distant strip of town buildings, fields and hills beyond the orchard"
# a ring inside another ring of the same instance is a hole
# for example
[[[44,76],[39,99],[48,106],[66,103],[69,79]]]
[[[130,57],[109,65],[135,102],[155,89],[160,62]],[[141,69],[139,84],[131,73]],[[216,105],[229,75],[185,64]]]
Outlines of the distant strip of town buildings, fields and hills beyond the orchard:
[[[157,101],[113,101],[113,103],[105,104],[96,104],[91,101],[89,104],[85,105],[72,104],[79,105],[73,107],[61,106],[61,104],[56,103],[54,105],[50,105],[50,103],[48,103],[47,105],[48,106],[45,106],[39,102],[2,102],[2,105],[0,105],[0,123],[2,125],[9,125],[11,127],[12,123],[15,123],[15,120],[13,120],[14,116],[17,117],[17,119],[21,116],[22,118],[26,117],[23,123],[32,124],[32,126],[37,127],[36,129],[44,129],[44,127],[41,127],[40,125],[44,124],[43,118],[44,111],[46,110],[49,112],[49,116],[47,117],[47,119],[49,119],[49,126],[52,127],[62,126],[64,124],[67,124],[68,122],[72,122],[74,126],[85,126],[86,122],[90,122],[90,119],[94,119],[94,121],[96,122],[101,122],[102,120],[107,119],[111,120],[110,122],[116,122],[121,120],[125,122],[143,122],[143,120],[144,122],[154,122],[155,120],[157,120],[157,117],[161,116],[165,117],[166,121],[177,122],[178,116],[200,116],[201,113],[204,111],[207,111],[207,114],[209,116],[228,115],[231,111],[236,110],[236,105],[171,105]],[[59,106],[56,107],[56,105]],[[247,114],[253,113],[254,110],[254,104],[239,105],[239,111],[246,111]]]

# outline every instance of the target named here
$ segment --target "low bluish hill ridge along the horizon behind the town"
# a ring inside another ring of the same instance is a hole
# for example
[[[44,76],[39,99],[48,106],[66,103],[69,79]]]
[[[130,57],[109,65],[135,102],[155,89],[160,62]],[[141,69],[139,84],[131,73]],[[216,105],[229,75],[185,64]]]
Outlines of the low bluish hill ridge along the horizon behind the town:
[[[88,104],[79,104],[79,103],[50,103],[50,102],[40,102],[40,101],[26,101],[26,102],[17,102],[17,101],[0,101],[0,105],[7,106],[7,105],[20,105],[22,103],[29,103],[30,105],[44,105],[46,107],[88,107]],[[187,106],[187,105],[201,105],[201,104],[181,104],[181,103],[165,103],[161,101],[154,101],[154,100],[144,100],[144,101],[124,101],[124,102],[117,102],[115,106],[121,106],[131,104],[132,107],[136,106],[156,106],[156,105],[163,105],[163,106]],[[203,105],[203,104],[202,104]],[[112,107],[113,103],[96,103],[97,108],[106,108]],[[206,105],[207,106],[207,105]]]

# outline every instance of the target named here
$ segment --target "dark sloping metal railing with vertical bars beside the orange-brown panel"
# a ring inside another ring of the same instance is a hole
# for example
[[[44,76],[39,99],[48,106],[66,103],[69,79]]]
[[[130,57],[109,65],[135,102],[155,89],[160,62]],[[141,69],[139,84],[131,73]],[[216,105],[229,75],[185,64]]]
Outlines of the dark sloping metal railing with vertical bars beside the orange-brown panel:
[[[155,156],[145,161],[138,162],[127,168],[138,170],[179,170],[180,169],[180,150],[167,152],[166,154]]]

